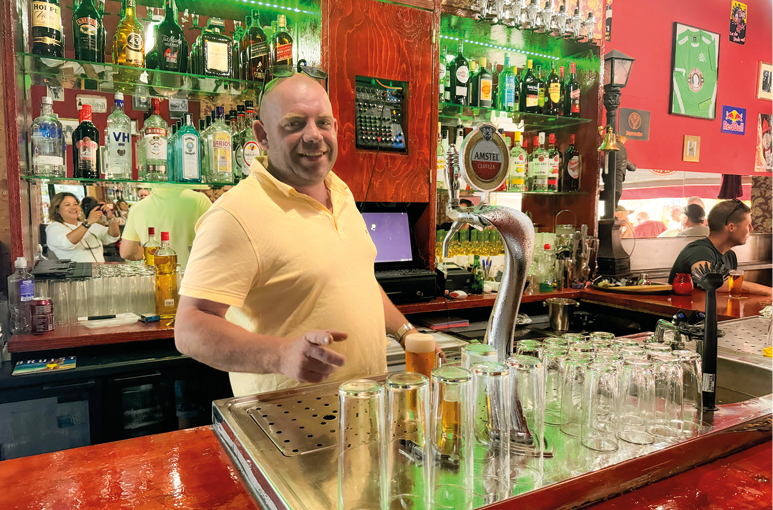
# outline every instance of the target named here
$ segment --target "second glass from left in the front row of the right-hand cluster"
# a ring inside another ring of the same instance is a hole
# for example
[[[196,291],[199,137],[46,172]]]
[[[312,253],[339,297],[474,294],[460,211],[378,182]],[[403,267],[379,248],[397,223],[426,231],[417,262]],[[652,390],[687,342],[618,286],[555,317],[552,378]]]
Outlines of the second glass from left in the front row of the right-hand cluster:
[[[645,358],[627,358],[620,376],[618,439],[631,444],[652,444],[649,421],[655,409],[655,376]]]

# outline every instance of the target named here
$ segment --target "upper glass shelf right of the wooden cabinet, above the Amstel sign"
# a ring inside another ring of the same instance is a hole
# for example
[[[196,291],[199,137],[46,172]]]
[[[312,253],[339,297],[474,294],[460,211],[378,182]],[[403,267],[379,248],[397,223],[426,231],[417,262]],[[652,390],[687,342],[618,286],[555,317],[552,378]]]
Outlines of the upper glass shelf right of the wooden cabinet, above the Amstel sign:
[[[501,116],[505,114],[506,117]],[[452,103],[440,103],[438,117],[440,123],[446,126],[455,126],[457,119],[461,119],[465,125],[476,125],[481,122],[494,122],[507,120],[515,124],[523,122],[526,131],[536,129],[561,129],[566,127],[586,124],[591,119],[580,117],[562,117],[556,115],[542,115],[539,113],[501,112],[495,108],[482,106],[462,106]]]

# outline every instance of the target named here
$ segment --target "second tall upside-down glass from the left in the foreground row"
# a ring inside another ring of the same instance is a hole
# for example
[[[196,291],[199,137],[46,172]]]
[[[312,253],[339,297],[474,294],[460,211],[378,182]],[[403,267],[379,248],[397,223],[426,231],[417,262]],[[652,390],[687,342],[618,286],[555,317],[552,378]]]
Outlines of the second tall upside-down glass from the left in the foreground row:
[[[429,379],[412,372],[387,376],[387,501],[389,508],[429,508],[426,441]]]

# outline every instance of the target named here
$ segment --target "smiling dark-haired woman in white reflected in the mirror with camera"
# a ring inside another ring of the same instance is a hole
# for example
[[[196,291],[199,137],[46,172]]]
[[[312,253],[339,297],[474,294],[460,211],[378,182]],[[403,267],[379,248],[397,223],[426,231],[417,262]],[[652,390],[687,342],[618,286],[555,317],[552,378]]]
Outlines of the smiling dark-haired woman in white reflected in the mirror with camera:
[[[46,244],[60,259],[73,262],[104,262],[102,246],[118,241],[121,232],[113,211],[100,205],[96,199],[83,199],[83,216],[78,197],[72,193],[57,193],[51,199],[48,217],[51,223],[46,227]],[[98,222],[107,217],[108,225]]]

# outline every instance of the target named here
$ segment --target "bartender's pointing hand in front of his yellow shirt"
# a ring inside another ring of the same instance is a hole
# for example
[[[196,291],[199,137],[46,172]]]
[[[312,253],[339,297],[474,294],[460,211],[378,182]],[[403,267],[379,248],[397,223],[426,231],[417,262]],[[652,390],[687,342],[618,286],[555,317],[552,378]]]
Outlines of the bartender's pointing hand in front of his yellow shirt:
[[[341,331],[306,331],[297,340],[291,340],[280,348],[280,373],[300,382],[324,381],[346,362],[346,356],[324,346],[342,342],[348,337]]]

